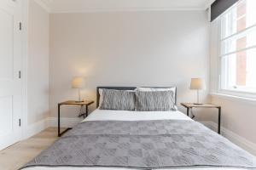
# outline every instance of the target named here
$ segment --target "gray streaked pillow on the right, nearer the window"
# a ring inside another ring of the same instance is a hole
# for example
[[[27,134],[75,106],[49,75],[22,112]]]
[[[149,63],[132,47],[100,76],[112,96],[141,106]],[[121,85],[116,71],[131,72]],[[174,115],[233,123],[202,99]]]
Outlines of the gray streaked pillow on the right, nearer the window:
[[[176,111],[172,91],[136,91],[136,111]]]

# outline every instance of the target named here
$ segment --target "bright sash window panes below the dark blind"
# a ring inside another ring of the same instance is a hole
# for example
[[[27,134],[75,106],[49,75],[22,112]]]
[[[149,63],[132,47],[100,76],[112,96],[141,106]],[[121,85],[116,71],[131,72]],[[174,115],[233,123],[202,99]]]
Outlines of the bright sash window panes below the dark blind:
[[[256,0],[238,1],[220,20],[220,88],[256,93]]]

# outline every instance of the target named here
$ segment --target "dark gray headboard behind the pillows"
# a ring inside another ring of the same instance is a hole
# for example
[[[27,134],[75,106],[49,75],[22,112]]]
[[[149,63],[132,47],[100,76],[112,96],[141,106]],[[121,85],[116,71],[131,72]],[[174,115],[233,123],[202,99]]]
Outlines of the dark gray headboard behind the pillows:
[[[115,89],[115,90],[134,90],[137,87],[109,87],[109,86],[99,86],[96,88],[96,107],[99,106],[100,102],[100,88],[106,88],[106,89]],[[147,88],[172,88],[172,87],[147,87]],[[175,105],[177,105],[177,88],[175,92]]]

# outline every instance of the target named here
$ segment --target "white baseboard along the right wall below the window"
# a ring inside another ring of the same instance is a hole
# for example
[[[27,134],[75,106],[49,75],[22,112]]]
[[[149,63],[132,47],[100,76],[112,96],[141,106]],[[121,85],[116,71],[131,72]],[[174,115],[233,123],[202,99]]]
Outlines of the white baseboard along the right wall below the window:
[[[201,122],[204,124],[206,127],[211,128],[214,131],[217,131],[218,129],[218,124],[215,122]],[[233,133],[229,129],[225,127],[220,127],[220,133],[226,138],[229,139],[232,143],[240,146],[242,149],[247,150],[254,156],[256,156],[256,144],[253,142],[241,137],[240,135]]]

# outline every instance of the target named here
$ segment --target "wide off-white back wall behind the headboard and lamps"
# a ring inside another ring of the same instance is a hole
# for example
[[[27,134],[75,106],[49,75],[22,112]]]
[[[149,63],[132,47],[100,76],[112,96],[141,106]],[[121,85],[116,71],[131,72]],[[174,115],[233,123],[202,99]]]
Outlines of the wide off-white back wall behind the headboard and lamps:
[[[74,76],[86,77],[86,99],[101,85],[174,85],[178,102],[195,101],[190,78],[208,82],[207,23],[205,11],[50,14],[50,116],[58,102],[78,98]],[[74,108],[63,106],[62,116],[77,115]]]

